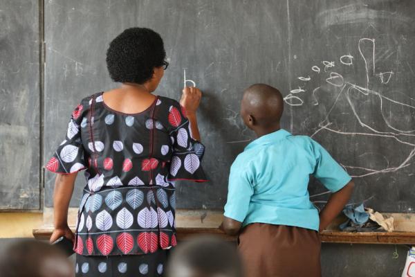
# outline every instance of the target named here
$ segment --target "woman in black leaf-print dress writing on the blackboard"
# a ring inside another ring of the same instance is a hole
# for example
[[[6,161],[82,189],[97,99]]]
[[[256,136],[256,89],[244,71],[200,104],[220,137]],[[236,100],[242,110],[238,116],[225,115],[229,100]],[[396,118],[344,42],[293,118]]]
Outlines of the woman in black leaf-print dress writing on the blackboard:
[[[163,40],[129,28],[107,52],[118,89],[84,98],[65,141],[46,168],[57,172],[53,242],[74,241],[76,276],[162,276],[176,245],[175,180],[206,181],[196,121],[201,91],[183,89],[181,105],[151,94],[168,63]],[[86,169],[75,235],[68,204],[77,172]]]

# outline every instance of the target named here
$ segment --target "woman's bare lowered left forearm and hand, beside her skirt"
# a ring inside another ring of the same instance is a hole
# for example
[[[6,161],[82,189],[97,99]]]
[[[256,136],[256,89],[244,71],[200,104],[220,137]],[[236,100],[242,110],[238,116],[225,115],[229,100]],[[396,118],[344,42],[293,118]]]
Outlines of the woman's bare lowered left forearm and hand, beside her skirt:
[[[68,208],[76,176],[77,172],[68,175],[58,174],[56,177],[55,190],[53,190],[54,230],[50,236],[50,242],[54,242],[62,236],[72,241],[75,239],[73,232],[68,226]]]

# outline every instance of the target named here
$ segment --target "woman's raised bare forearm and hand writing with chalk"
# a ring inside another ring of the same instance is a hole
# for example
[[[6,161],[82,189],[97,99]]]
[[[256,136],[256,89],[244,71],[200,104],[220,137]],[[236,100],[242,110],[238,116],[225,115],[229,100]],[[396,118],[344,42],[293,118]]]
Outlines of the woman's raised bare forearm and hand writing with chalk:
[[[180,100],[187,113],[187,119],[190,123],[190,131],[192,132],[192,138],[196,141],[201,141],[201,134],[199,133],[199,127],[197,126],[196,111],[201,102],[202,92],[197,87],[185,87]]]

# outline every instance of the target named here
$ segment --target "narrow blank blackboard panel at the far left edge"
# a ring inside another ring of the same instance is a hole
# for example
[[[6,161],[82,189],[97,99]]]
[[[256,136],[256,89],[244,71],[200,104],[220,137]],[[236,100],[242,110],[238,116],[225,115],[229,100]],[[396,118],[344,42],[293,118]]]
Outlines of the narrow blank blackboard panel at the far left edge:
[[[39,209],[39,3],[0,0],[0,209]]]

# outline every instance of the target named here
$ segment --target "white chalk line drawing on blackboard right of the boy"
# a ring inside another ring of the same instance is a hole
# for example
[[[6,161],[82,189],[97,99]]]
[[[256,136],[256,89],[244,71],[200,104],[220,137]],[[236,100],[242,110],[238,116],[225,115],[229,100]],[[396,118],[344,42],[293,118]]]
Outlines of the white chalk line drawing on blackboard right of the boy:
[[[327,111],[324,120],[322,120],[317,127],[317,130],[314,132],[314,134],[311,135],[311,137],[315,136],[319,132],[328,131],[333,132],[335,134],[340,134],[343,136],[369,136],[369,137],[378,137],[383,139],[392,139],[396,141],[397,143],[400,143],[402,145],[406,145],[409,147],[409,150],[407,152],[406,157],[403,157],[398,163],[395,165],[389,164],[389,159],[385,157],[387,164],[385,166],[382,166],[380,168],[370,168],[370,166],[348,166],[341,164],[341,166],[349,172],[351,177],[353,178],[363,178],[371,175],[380,175],[385,174],[389,172],[396,172],[398,170],[401,170],[403,168],[406,168],[407,166],[410,166],[412,163],[412,160],[415,157],[415,129],[413,128],[407,128],[405,127],[397,127],[394,123],[391,122],[391,117],[385,114],[385,107],[389,107],[390,105],[398,105],[402,108],[409,108],[410,110],[415,111],[415,105],[412,104],[412,102],[405,102],[403,100],[395,100],[393,99],[393,96],[387,96],[380,89],[372,89],[373,86],[369,86],[369,80],[372,80],[373,77],[377,77],[379,82],[381,84],[388,84],[392,80],[392,76],[394,75],[394,71],[385,71],[385,72],[378,72],[376,73],[376,43],[375,39],[372,38],[362,38],[358,41],[358,51],[360,53],[360,57],[365,62],[365,84],[356,84],[353,83],[352,80],[345,80],[343,76],[340,73],[333,72],[329,70],[329,77],[326,78],[326,83],[332,85],[333,87],[337,88],[338,96],[335,97],[335,100],[333,104],[331,105],[331,108],[329,111]],[[393,51],[392,51],[393,53]],[[344,66],[355,66],[353,63],[354,57],[352,55],[342,55],[340,57],[340,64]],[[334,67],[334,62],[329,61],[323,61],[322,64],[324,64],[324,71],[327,71],[328,69],[331,69]],[[314,71],[315,73],[320,73],[320,67],[317,65],[314,65],[311,67],[311,71]],[[348,76],[348,78],[350,78]],[[298,80],[301,80],[301,78],[297,78]],[[319,105],[318,95],[317,92],[319,91],[320,86],[313,89],[312,97],[311,97],[311,105]],[[305,89],[304,89],[305,90]],[[294,92],[294,93],[293,93]],[[290,106],[302,106],[306,105],[304,100],[301,98],[303,91],[297,91],[296,89],[293,91],[290,91],[290,93],[284,97],[284,101],[286,104]],[[382,116],[382,122],[385,124],[385,128],[379,130],[375,126],[372,125],[371,122],[373,120],[370,120],[368,118],[361,118],[360,117],[360,111],[358,107],[356,107],[356,103],[353,103],[351,96],[363,96],[365,98],[369,97],[376,97],[378,98],[378,107],[380,109],[380,114]],[[414,100],[411,98],[411,100]],[[330,121],[329,116],[331,113],[334,113],[334,107],[338,104],[338,101],[346,101],[347,107],[351,109],[351,113],[353,115],[353,118],[356,118],[358,125],[360,127],[363,127],[363,131],[360,132],[349,132],[344,131],[342,129],[337,129],[333,127],[333,123]],[[311,197],[318,197],[321,195],[329,194],[329,191],[324,191],[323,193],[318,193],[315,195],[311,195]],[[373,197],[373,196],[371,196]],[[369,197],[368,199],[371,199]],[[367,200],[367,199],[366,199]],[[313,201],[313,203],[325,203],[326,201]]]

